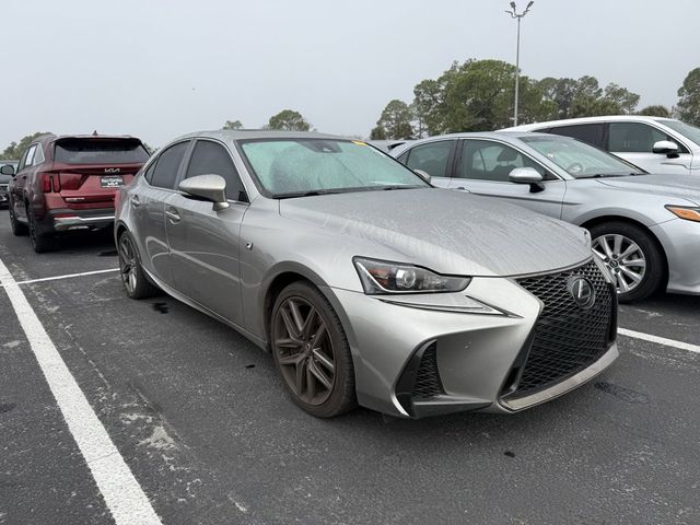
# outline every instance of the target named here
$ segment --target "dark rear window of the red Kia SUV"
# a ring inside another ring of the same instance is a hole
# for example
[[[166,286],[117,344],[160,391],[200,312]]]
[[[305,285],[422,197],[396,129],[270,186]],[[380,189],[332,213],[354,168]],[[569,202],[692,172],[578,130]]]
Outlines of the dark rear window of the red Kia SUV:
[[[149,153],[139,139],[62,139],[54,161],[65,164],[138,164]]]

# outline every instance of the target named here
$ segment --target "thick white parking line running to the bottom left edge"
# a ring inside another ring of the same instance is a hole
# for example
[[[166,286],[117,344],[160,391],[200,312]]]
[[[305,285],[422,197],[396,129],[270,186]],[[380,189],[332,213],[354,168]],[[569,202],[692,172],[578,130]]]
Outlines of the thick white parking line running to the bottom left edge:
[[[78,447],[118,525],[162,525],[141,486],[81,392],[42,322],[0,260],[0,283]]]

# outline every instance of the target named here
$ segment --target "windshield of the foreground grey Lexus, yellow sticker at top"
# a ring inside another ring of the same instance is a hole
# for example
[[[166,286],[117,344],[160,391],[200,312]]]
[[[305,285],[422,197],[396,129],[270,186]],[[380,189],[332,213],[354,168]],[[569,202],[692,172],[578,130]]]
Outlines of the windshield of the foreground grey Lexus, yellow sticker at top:
[[[429,187],[413,172],[360,141],[252,139],[241,141],[241,149],[260,185],[276,198]]]

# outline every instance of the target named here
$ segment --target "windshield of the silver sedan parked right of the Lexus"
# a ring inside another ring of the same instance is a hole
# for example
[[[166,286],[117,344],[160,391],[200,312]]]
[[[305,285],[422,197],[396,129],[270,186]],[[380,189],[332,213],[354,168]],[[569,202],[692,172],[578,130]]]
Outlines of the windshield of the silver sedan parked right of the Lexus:
[[[521,137],[521,140],[575,178],[644,173],[633,164],[568,137]]]

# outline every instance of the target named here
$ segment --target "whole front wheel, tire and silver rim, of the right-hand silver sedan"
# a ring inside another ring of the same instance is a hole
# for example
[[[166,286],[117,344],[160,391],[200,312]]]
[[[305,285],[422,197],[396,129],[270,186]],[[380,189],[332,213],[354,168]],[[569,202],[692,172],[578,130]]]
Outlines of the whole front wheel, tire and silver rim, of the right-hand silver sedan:
[[[663,284],[664,254],[644,229],[627,222],[606,222],[591,229],[593,250],[614,277],[621,303],[642,301]]]

